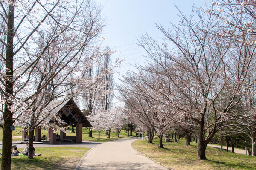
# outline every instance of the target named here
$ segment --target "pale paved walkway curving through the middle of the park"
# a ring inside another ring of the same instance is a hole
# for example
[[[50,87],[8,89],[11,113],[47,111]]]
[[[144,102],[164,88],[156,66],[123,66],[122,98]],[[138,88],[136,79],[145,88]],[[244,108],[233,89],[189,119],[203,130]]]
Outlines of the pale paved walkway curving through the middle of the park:
[[[102,143],[84,157],[79,170],[167,170],[131,146],[136,138]]]

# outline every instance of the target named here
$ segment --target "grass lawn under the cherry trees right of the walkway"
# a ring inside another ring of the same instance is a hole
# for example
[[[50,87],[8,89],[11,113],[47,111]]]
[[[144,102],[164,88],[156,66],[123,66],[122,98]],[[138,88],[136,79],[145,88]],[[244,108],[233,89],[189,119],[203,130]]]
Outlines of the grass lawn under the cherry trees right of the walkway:
[[[158,149],[158,139],[154,144],[147,141],[134,141],[133,146],[148,157],[165,164],[175,170],[255,170],[256,158],[207,147],[206,158],[197,160],[197,144],[186,146],[184,141],[179,143],[165,143]]]

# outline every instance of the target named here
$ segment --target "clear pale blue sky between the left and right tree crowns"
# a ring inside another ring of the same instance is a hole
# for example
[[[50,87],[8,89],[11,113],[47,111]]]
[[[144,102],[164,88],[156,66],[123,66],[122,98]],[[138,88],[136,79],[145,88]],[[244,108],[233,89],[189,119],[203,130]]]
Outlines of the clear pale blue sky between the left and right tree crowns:
[[[205,0],[96,0],[103,6],[102,17],[107,18],[107,26],[102,33],[105,40],[102,46],[110,46],[116,52],[112,61],[119,57],[125,59],[121,68],[116,69],[115,82],[126,71],[134,71],[134,64],[145,65],[148,61],[143,48],[136,43],[141,35],[147,32],[151,37],[161,41],[163,34],[156,28],[155,23],[160,23],[170,28],[170,23],[178,23],[179,13],[177,7],[184,14],[189,14],[193,3],[203,6]],[[209,0],[207,0],[209,2]],[[115,91],[116,93],[116,91]],[[115,105],[119,101],[114,100]]]

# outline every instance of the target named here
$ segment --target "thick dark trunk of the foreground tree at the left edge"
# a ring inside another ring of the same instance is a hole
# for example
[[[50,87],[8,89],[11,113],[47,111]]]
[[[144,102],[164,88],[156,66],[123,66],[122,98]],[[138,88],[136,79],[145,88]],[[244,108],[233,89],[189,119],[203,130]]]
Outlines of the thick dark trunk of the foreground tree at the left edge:
[[[3,144],[2,144],[2,163],[1,170],[11,170],[11,148],[12,148],[12,131],[10,126],[13,125],[12,101],[9,99],[13,95],[13,37],[14,37],[14,0],[10,1],[7,17],[7,42],[6,42],[6,81],[5,81],[5,101],[3,112]]]

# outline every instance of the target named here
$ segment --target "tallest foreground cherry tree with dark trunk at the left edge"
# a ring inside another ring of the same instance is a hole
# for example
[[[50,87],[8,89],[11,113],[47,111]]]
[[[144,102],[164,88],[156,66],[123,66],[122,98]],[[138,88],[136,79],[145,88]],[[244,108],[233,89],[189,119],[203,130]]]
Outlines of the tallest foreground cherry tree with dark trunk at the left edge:
[[[46,99],[42,93],[47,86],[60,75],[65,80],[94,48],[92,43],[99,38],[104,23],[99,8],[90,0],[10,0],[0,4],[0,91],[4,106],[1,167],[7,170],[11,169],[13,118],[23,110],[34,113],[34,104]],[[41,72],[36,75],[39,68]],[[53,90],[56,86],[48,87]]]

